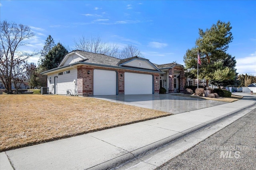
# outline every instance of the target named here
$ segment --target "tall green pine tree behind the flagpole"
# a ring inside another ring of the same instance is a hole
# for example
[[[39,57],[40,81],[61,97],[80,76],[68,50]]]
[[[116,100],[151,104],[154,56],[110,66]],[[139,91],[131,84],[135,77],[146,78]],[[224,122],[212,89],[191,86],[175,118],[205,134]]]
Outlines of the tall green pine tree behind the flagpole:
[[[196,46],[186,51],[184,55],[185,68],[190,72],[190,77],[197,76],[197,52],[199,51],[201,65],[199,66],[199,78],[206,79],[206,86],[211,84],[227,86],[235,83],[236,60],[226,53],[228,44],[233,36],[230,30],[230,22],[218,21],[210,29],[199,29],[199,38]]]

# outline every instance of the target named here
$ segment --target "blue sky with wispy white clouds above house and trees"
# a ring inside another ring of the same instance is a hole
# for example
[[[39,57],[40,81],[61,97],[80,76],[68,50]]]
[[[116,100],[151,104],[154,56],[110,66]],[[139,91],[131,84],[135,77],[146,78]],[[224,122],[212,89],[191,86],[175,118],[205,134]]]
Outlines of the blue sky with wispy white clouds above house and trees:
[[[135,45],[152,63],[184,64],[195,46],[198,28],[218,20],[232,26],[227,53],[236,57],[239,74],[256,76],[256,1],[47,1],[0,0],[0,20],[29,25],[36,33],[27,51],[40,51],[48,35],[74,47],[74,39],[99,36],[122,49]],[[32,62],[38,58],[30,59]]]

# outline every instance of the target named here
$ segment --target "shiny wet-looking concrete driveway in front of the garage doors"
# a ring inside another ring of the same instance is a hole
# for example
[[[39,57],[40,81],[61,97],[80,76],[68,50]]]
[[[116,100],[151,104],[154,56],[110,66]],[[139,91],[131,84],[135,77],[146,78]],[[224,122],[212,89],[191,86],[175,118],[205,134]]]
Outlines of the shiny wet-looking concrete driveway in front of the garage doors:
[[[173,94],[137,94],[117,96],[94,96],[94,98],[108,100],[110,102],[122,103],[132,106],[144,107],[177,114],[187,111],[202,109],[206,107],[226,104],[215,100],[204,100],[175,96]]]

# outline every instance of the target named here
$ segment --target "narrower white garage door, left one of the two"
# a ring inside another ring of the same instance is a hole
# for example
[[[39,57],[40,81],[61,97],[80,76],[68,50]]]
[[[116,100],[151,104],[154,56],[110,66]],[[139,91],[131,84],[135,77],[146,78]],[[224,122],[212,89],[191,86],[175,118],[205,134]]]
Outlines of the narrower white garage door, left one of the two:
[[[116,72],[110,70],[93,71],[93,95],[116,95]]]

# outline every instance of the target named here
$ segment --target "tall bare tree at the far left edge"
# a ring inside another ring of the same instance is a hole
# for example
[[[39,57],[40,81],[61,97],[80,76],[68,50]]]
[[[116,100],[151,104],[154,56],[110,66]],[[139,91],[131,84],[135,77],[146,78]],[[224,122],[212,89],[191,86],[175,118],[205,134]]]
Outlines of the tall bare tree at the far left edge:
[[[18,51],[34,35],[26,25],[0,22],[0,78],[8,94],[12,93],[12,81],[15,84],[24,76],[28,58],[37,54]]]

